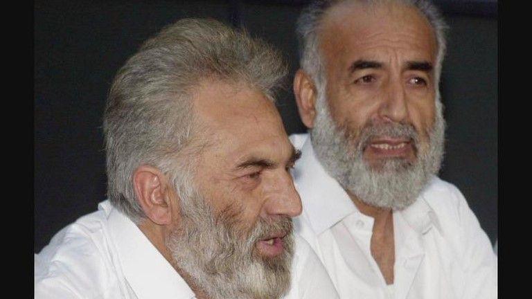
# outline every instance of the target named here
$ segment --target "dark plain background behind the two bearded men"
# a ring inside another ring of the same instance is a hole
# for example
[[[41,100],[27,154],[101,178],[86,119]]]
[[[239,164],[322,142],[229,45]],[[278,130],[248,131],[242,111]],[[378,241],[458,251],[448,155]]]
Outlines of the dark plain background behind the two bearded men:
[[[288,134],[305,132],[291,80],[295,22],[308,1],[35,1],[35,253],[105,200],[101,129],[116,71],[141,43],[183,17],[244,26],[290,64],[279,109]],[[447,135],[442,179],[497,237],[497,2],[435,1],[450,25],[441,93]]]

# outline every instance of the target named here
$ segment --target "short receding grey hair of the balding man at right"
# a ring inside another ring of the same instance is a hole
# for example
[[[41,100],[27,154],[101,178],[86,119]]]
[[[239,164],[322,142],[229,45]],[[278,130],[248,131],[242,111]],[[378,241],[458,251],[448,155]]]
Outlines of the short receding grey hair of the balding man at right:
[[[325,90],[326,75],[323,62],[324,57],[319,53],[319,28],[325,13],[339,3],[353,0],[315,0],[310,3],[297,20],[296,33],[299,39],[299,57],[301,69],[310,75],[314,84],[319,91]],[[433,3],[427,0],[354,0],[359,3],[378,4],[386,2],[402,3],[407,6],[414,6],[423,14],[429,24],[431,24],[436,35],[436,44],[438,53],[436,55],[436,66],[434,74],[436,79],[435,88],[439,90],[439,81],[441,75],[441,66],[445,56],[446,41],[445,33],[447,24],[443,19],[441,12]]]

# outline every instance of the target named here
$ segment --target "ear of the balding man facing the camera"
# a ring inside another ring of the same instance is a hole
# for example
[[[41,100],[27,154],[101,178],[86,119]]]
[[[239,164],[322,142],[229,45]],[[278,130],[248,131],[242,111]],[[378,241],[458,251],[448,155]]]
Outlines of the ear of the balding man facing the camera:
[[[314,80],[302,69],[299,69],[294,76],[294,96],[301,121],[312,129],[316,118],[317,91]]]

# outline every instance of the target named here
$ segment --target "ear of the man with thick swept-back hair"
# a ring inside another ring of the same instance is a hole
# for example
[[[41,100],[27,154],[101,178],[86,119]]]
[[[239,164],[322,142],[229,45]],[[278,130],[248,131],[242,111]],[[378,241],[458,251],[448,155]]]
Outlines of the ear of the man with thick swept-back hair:
[[[155,224],[168,225],[172,223],[172,205],[178,204],[168,185],[166,176],[156,167],[141,165],[133,174],[133,185],[136,200],[139,202],[146,217]]]

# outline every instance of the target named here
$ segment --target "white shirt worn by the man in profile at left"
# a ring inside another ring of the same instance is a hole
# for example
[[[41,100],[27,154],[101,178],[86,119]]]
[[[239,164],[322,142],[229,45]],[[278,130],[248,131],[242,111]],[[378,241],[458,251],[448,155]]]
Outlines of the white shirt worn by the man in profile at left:
[[[35,255],[35,298],[192,299],[188,284],[109,201],[60,230]],[[295,238],[287,299],[338,298],[323,265]]]

